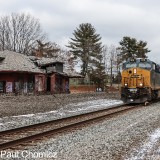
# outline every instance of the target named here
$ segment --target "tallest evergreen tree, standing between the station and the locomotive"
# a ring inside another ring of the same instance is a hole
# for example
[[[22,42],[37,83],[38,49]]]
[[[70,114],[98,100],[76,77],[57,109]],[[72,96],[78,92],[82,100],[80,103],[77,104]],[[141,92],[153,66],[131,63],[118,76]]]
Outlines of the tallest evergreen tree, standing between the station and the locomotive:
[[[81,60],[81,74],[86,76],[91,68],[94,70],[92,64],[98,61],[102,54],[101,37],[89,23],[80,24],[73,35],[74,38],[71,38],[67,47],[75,58]]]

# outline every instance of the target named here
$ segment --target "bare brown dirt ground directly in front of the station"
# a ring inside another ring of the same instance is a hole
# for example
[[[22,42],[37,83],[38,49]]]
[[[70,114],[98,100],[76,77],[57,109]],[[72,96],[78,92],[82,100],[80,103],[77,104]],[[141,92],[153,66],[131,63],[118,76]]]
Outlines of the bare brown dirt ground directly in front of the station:
[[[119,99],[119,93],[92,92],[39,96],[0,96],[0,117],[47,112],[70,103],[96,99]],[[76,107],[76,105],[75,105]]]

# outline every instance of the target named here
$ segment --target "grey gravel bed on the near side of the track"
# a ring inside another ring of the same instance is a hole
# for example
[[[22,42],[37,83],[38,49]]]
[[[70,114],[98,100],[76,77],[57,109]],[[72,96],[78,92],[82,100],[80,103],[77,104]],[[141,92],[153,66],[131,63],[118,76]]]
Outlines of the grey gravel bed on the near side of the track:
[[[156,145],[160,142],[160,136],[155,135],[160,133],[159,106],[160,103],[152,104],[88,128],[54,137],[26,148],[26,152],[51,152],[54,154],[52,159],[56,160],[144,160],[149,159],[151,154],[154,160],[158,160],[158,154],[155,153],[159,151]],[[150,154],[146,153],[148,150],[145,146],[150,147]],[[29,159],[34,158],[31,156]]]

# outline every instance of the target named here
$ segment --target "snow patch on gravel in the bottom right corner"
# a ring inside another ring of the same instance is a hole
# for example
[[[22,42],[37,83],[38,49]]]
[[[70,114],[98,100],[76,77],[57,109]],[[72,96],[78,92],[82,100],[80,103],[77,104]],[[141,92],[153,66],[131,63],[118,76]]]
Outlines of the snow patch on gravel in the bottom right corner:
[[[160,159],[160,148],[156,147],[158,141],[160,141],[160,128],[151,133],[139,148],[134,148],[127,160]]]

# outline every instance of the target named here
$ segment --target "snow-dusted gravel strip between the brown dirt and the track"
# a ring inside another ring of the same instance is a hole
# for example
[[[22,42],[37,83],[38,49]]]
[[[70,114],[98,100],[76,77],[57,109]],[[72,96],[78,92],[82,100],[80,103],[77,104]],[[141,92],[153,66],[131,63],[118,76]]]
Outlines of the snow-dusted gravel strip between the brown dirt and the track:
[[[98,99],[80,103],[72,103],[58,110],[45,113],[18,115],[0,118],[0,131],[21,127],[29,124],[45,122],[53,119],[73,116],[103,108],[114,107],[123,102],[113,99]]]

